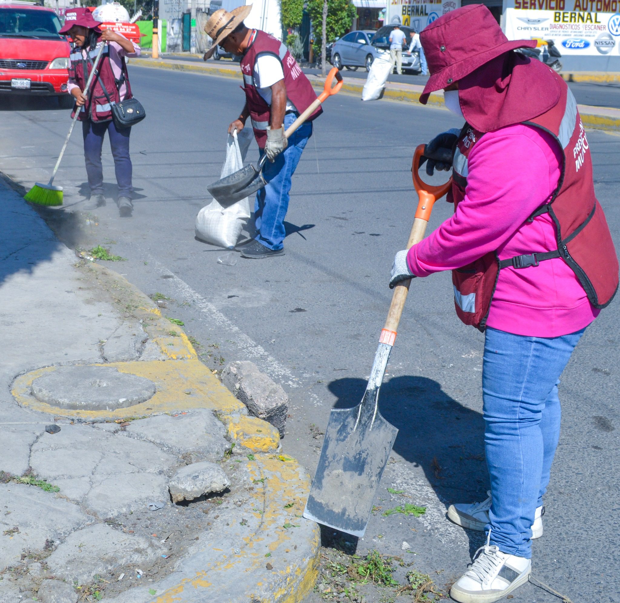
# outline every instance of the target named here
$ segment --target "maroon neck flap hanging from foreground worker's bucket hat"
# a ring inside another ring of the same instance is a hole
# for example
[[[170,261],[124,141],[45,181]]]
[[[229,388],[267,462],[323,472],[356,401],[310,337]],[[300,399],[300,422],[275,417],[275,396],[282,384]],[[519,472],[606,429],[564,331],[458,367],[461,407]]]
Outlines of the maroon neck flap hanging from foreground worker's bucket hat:
[[[559,99],[560,85],[551,69],[516,52],[503,53],[459,79],[463,116],[480,132],[538,117]]]

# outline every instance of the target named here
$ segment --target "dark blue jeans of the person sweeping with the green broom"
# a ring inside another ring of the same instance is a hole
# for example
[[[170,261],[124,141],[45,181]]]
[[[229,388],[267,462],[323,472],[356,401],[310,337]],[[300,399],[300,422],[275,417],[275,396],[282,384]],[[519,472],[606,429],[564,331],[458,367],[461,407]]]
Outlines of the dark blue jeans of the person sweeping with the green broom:
[[[110,148],[114,158],[114,170],[118,184],[118,196],[130,197],[131,186],[131,158],[129,156],[129,136],[131,128],[117,130],[113,121],[92,122],[90,119],[82,122],[82,137],[84,138],[84,159],[86,160],[86,175],[91,194],[103,194],[104,170],[101,165],[101,150],[104,146],[105,132],[110,138]]]

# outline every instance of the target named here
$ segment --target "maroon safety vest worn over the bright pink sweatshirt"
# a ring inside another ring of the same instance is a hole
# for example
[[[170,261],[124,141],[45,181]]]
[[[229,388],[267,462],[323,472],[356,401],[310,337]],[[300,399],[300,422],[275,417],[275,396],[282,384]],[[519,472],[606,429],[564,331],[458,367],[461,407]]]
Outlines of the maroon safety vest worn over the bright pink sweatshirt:
[[[562,166],[557,188],[549,203],[539,207],[527,220],[549,213],[556,225],[557,247],[546,253],[518,255],[499,260],[490,252],[463,268],[452,271],[456,314],[467,325],[485,330],[500,270],[535,270],[540,261],[561,258],[577,275],[596,308],[609,304],[618,289],[618,257],[603,209],[596,199],[592,160],[577,101],[559,76],[562,93],[555,107],[532,120],[533,125],[556,138],[562,148]],[[454,209],[465,197],[467,159],[484,133],[466,124],[453,154],[452,195]]]

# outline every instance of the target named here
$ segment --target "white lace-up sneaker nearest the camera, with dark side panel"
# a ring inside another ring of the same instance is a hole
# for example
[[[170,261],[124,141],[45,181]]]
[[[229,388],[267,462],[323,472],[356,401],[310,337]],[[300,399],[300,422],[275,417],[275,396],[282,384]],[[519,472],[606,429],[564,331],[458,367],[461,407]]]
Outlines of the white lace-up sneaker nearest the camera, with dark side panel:
[[[531,561],[490,546],[490,535],[489,532],[487,543],[476,551],[471,568],[452,585],[450,596],[454,601],[492,603],[528,581]]]

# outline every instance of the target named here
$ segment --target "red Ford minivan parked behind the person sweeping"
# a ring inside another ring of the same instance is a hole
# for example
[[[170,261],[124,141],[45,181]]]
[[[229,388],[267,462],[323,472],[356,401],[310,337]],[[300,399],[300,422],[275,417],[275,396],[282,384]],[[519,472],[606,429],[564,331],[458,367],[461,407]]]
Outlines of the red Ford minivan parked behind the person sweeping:
[[[67,92],[69,43],[56,13],[34,2],[0,0],[0,93],[58,96]]]

